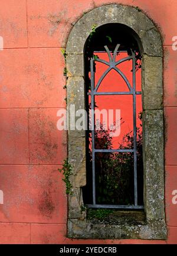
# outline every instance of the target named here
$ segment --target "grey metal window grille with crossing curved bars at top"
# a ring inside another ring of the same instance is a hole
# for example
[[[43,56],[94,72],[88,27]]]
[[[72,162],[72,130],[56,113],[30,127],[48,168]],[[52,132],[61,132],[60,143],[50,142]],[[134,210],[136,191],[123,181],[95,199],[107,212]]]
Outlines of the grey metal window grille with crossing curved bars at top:
[[[101,59],[94,59],[93,57],[90,59],[90,71],[91,71],[91,91],[87,94],[91,96],[91,110],[94,111],[94,97],[95,95],[133,95],[133,149],[96,149],[95,148],[95,134],[94,129],[91,130],[91,143],[92,143],[92,179],[93,179],[93,204],[88,205],[89,208],[114,208],[114,209],[143,209],[142,205],[137,205],[137,148],[136,148],[136,95],[142,94],[142,92],[136,91],[136,58],[135,53],[132,52],[131,56],[125,57],[119,61],[116,61],[116,54],[119,49],[120,44],[117,44],[113,56],[109,51],[109,48],[107,46],[104,46],[106,49],[109,61],[101,60]],[[97,51],[98,52],[98,51]],[[120,51],[119,51],[120,52]],[[124,61],[132,60],[132,72],[133,72],[133,88],[130,85],[127,77],[121,72],[121,70],[117,67],[120,63],[123,63]],[[94,85],[94,61],[98,61],[101,63],[104,63],[108,66],[107,70],[102,74],[100,77],[97,85]],[[126,82],[126,85],[129,88],[129,92],[97,92],[102,80],[106,76],[107,73],[110,72],[110,70],[116,70],[117,73],[122,76],[124,79],[124,82]],[[94,124],[94,115],[91,115],[91,122]],[[96,172],[95,172],[95,153],[133,153],[133,159],[134,159],[134,198],[135,203],[134,205],[98,205],[96,203]]]

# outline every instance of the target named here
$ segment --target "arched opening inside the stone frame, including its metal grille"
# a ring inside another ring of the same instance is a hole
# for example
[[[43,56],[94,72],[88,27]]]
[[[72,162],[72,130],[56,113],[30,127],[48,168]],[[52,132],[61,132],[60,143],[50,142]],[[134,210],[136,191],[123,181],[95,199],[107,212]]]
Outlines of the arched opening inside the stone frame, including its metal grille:
[[[85,46],[89,208],[143,209],[142,56],[122,24],[92,29]]]

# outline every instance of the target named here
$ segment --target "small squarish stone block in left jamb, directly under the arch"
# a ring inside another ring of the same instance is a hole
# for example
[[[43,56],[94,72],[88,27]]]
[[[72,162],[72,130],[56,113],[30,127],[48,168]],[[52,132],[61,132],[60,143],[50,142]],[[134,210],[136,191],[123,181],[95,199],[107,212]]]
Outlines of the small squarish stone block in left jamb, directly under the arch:
[[[68,54],[66,57],[67,76],[84,76],[83,54]]]

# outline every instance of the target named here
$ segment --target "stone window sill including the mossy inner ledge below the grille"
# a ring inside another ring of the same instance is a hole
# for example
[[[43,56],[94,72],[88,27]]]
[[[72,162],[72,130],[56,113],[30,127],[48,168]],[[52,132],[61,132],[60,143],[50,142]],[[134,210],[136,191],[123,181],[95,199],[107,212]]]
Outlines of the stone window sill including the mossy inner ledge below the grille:
[[[107,219],[68,219],[68,237],[84,239],[166,239],[163,219],[144,212],[115,212]]]

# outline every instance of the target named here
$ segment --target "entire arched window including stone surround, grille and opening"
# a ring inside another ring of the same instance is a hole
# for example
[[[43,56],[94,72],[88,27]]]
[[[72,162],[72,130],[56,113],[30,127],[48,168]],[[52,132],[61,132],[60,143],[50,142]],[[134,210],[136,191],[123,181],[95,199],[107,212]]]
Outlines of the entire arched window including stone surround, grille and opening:
[[[67,109],[97,113],[87,131],[68,128],[69,237],[166,239],[162,63],[158,28],[137,8],[103,5],[74,24],[66,47]],[[112,126],[103,129],[106,122]]]

